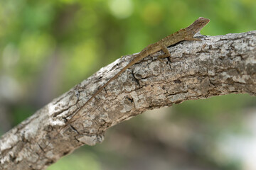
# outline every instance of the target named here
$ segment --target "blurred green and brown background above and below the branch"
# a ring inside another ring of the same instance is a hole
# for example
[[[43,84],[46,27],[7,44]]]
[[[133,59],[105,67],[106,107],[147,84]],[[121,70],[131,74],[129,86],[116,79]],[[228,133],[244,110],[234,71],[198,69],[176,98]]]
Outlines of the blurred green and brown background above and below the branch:
[[[210,18],[204,35],[256,30],[256,1],[0,1],[0,135],[101,67],[199,16]],[[150,111],[48,170],[256,169],[255,103],[231,94]]]

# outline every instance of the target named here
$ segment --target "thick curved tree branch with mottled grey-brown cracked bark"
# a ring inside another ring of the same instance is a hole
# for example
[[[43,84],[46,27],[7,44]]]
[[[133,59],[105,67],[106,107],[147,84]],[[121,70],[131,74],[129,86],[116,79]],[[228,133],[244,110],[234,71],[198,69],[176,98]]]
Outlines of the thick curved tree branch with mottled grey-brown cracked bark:
[[[0,169],[46,169],[82,145],[102,142],[107,128],[149,109],[225,94],[256,95],[256,31],[203,36],[169,51],[170,58],[157,60],[162,52],[156,52],[134,64],[86,106],[131,56],[55,98],[1,137]]]

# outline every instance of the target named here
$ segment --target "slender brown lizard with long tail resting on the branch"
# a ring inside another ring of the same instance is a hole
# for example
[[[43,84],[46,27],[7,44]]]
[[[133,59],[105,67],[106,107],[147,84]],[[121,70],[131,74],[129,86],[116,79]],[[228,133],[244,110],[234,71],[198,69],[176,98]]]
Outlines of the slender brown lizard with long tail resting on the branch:
[[[114,77],[109,79],[103,86],[101,86],[100,89],[97,89],[97,91],[94,94],[92,94],[92,96],[82,105],[82,107],[85,107],[87,103],[92,101],[92,99],[97,96],[97,94],[100,94],[100,91],[102,91],[102,89],[104,89],[108,84],[110,84],[111,81],[113,81],[114,79],[117,79],[117,77],[119,77],[120,74],[122,74],[129,67],[132,67],[132,65],[137,64],[138,62],[143,60],[144,57],[152,55],[155,52],[158,52],[160,50],[163,50],[165,54],[160,55],[159,58],[171,57],[171,54],[167,47],[171,45],[176,45],[176,43],[181,42],[183,40],[201,40],[200,38],[194,38],[193,36],[196,33],[198,33],[204,26],[206,26],[206,24],[209,23],[209,21],[210,19],[208,18],[199,17],[187,28],[182,28],[181,30],[178,30],[176,33],[168,35],[167,37],[159,40],[158,42],[155,42],[154,44],[146,46],[141,52],[139,52],[137,55],[134,55],[132,61],[129,62],[129,64],[127,64],[119,72],[117,72],[117,74],[115,74]],[[75,96],[79,98],[79,94],[75,94]],[[70,118],[70,120],[66,121],[65,125],[62,128],[60,128],[60,130],[58,130],[56,135],[58,135],[61,130],[63,130],[65,127],[67,127],[68,125],[70,125],[76,120],[75,115],[82,109],[82,107],[78,108],[78,110],[74,113],[73,117]],[[49,144],[50,142],[48,143],[48,145]],[[46,147],[48,147],[48,145],[46,145]],[[44,149],[46,149],[46,147]]]

